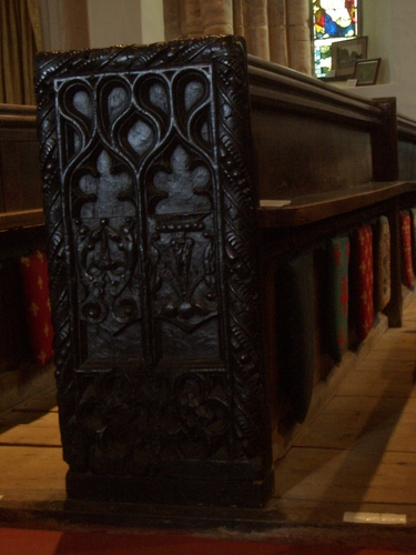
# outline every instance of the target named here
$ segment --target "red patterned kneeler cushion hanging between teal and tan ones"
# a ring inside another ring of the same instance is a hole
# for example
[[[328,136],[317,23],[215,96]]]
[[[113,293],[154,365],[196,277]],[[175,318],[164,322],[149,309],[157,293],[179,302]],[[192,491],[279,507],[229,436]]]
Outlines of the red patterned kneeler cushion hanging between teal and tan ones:
[[[374,324],[373,230],[362,225],[352,236],[353,292],[355,324],[358,342],[364,341]]]

